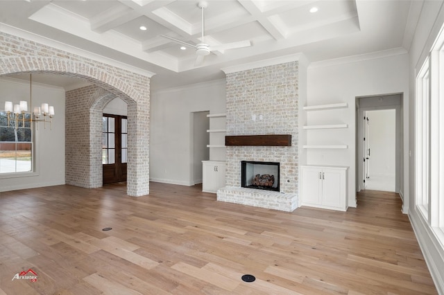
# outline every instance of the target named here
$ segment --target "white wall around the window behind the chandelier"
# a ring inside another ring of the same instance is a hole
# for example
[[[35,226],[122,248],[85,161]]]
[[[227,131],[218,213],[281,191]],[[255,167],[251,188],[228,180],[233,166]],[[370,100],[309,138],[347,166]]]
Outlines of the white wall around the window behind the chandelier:
[[[29,82],[11,78],[0,78],[0,108],[5,100],[18,102],[28,100]],[[49,102],[56,115],[52,130],[44,129],[39,123],[35,136],[35,172],[20,175],[0,175],[0,192],[22,188],[37,188],[65,184],[65,89],[33,82],[33,107]]]

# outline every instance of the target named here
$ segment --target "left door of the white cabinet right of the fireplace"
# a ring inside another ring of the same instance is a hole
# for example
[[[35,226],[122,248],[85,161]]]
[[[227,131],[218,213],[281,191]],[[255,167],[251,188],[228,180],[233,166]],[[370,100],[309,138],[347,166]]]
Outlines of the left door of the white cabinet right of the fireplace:
[[[302,204],[321,204],[320,175],[319,168],[302,167]]]

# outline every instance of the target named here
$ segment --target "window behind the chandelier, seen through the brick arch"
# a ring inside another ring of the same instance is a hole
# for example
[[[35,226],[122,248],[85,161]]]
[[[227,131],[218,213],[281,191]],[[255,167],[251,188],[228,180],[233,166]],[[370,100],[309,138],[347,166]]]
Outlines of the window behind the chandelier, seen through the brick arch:
[[[31,172],[33,169],[33,132],[31,114],[25,120],[0,111],[0,173]]]

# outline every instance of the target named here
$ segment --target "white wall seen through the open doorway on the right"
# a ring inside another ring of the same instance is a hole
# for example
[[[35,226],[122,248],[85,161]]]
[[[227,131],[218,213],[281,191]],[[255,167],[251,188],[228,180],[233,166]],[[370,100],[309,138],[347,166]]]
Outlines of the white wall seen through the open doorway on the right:
[[[395,110],[366,111],[368,145],[370,148],[369,176],[395,177]]]

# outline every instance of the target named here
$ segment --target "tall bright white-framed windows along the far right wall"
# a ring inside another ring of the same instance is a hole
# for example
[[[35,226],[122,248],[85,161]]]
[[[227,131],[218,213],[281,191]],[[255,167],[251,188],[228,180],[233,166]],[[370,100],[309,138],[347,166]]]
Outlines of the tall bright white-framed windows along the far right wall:
[[[444,244],[444,33],[416,77],[416,207]]]

